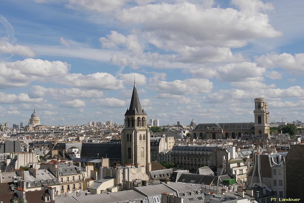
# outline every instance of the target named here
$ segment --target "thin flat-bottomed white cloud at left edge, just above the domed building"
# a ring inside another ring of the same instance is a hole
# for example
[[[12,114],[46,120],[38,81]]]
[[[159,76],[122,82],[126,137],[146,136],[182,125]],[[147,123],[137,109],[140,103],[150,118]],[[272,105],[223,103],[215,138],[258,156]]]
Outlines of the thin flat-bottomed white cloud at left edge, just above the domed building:
[[[0,103],[3,104],[12,104],[12,103],[46,103],[46,100],[43,98],[35,98],[31,99],[27,94],[20,93],[18,95],[15,94],[7,94],[0,92]]]

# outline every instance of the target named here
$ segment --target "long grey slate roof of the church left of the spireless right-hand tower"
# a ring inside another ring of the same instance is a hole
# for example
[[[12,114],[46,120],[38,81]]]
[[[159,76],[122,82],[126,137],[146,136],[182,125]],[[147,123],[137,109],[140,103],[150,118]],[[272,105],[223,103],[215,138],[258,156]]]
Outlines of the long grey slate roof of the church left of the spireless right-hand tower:
[[[207,130],[207,128],[216,127],[221,130],[231,129],[251,129],[254,128],[254,123],[200,123],[194,130]]]

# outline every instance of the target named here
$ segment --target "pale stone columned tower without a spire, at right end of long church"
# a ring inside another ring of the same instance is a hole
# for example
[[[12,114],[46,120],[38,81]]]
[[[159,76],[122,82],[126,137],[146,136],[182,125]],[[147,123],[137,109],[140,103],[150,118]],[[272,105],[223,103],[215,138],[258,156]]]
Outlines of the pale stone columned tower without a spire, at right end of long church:
[[[268,104],[264,98],[254,98],[254,132],[255,135],[267,134],[270,137]]]

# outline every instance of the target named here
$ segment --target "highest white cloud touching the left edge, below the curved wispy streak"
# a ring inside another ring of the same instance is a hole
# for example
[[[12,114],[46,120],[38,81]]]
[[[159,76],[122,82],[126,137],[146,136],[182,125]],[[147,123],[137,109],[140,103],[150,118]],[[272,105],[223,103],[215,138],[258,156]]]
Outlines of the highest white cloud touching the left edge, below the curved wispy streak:
[[[0,53],[2,54],[12,54],[12,55],[21,55],[25,57],[34,57],[35,52],[28,46],[23,45],[13,45],[8,41],[0,38]]]

